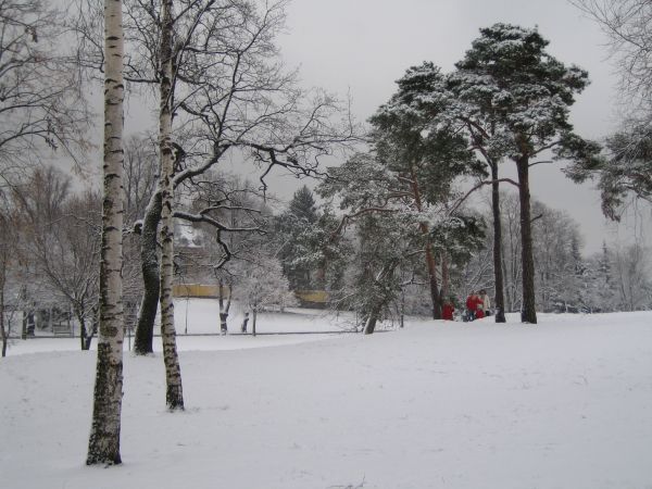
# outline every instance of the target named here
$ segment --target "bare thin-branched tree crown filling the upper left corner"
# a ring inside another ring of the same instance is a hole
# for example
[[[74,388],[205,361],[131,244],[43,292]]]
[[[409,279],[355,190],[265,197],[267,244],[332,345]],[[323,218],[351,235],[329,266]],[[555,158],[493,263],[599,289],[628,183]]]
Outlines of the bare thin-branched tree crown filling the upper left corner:
[[[78,71],[61,52],[63,13],[45,0],[0,1],[0,179],[12,181],[43,149],[77,162],[89,113]]]

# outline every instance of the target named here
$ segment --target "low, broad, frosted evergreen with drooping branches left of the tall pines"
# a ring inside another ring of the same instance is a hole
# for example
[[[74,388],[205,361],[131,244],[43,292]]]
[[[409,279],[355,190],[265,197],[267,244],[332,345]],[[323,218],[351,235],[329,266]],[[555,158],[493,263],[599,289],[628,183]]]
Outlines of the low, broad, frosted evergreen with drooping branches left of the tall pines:
[[[329,178],[317,188],[322,197],[337,197],[347,212],[336,234],[341,235],[349,223],[358,226],[352,261],[356,285],[342,296],[361,312],[366,333],[373,333],[376,322],[396,301],[402,285],[398,277],[418,275],[416,262],[423,263],[428,250],[431,256],[440,258],[443,250],[450,256],[474,242],[468,229],[475,221],[450,212],[446,201],[416,205],[411,180],[402,175],[376,153],[358,153],[341,166],[329,168]],[[452,239],[455,231],[468,239]],[[446,273],[443,268],[442,275]],[[432,277],[428,268],[426,275],[432,291],[431,278],[438,276]],[[439,299],[441,291],[435,285]]]

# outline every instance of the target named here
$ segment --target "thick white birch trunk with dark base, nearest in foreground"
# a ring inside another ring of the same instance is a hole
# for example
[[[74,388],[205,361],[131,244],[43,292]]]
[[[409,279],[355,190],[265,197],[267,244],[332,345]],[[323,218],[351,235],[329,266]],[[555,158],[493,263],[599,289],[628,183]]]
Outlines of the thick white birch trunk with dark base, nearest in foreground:
[[[123,397],[123,30],[122,0],[104,0],[104,199],[100,338],[86,464],[120,464]]]

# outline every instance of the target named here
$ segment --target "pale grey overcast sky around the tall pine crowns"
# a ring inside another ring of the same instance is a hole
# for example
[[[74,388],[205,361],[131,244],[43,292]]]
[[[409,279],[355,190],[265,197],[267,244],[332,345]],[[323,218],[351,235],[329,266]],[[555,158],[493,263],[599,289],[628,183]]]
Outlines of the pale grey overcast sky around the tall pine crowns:
[[[300,65],[309,86],[350,92],[361,121],[387,101],[405,68],[428,60],[450,71],[480,27],[506,22],[537,26],[550,40],[549,52],[588,70],[591,85],[572,115],[582,136],[601,138],[617,125],[616,77],[605,38],[566,0],[293,0],[287,13],[280,39],[287,63]],[[512,165],[503,166],[504,172]],[[538,165],[531,179],[535,198],[567,210],[581,224],[587,252],[631,233],[631,226],[605,227],[598,192],[565,179],[560,165]]]

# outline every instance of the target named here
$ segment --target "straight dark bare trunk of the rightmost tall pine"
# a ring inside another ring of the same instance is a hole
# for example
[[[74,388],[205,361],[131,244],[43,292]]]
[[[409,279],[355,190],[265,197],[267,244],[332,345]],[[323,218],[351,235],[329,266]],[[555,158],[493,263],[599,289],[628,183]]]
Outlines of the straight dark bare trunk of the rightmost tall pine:
[[[535,259],[532,254],[532,223],[530,217],[529,159],[516,161],[518,171],[518,200],[521,204],[521,263],[523,267],[523,308],[521,321],[537,324],[535,299]]]

